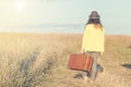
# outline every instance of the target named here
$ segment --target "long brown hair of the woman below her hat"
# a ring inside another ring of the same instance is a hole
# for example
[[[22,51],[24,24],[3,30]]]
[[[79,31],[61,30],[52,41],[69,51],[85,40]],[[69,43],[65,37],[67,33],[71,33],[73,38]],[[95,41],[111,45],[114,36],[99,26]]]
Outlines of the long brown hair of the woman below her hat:
[[[102,25],[99,18],[90,18],[88,22],[86,23],[86,25],[87,24],[94,24],[95,28],[100,28],[103,30],[103,25]]]

